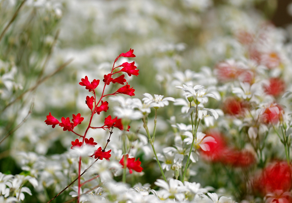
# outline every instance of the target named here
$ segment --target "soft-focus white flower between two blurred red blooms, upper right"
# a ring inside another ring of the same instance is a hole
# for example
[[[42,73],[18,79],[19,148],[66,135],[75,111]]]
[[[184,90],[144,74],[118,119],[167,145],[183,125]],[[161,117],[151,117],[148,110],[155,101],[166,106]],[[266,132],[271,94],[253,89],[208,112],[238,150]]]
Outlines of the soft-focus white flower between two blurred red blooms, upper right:
[[[260,96],[262,94],[261,87],[258,83],[250,85],[247,82],[241,82],[241,87],[233,87],[232,93],[242,99],[252,99],[253,96]]]

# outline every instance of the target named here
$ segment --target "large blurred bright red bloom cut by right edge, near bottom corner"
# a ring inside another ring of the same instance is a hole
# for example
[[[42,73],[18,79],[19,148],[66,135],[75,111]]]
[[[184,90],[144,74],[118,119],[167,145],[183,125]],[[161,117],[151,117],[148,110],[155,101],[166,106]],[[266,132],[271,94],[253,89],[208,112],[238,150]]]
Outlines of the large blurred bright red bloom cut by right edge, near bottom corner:
[[[277,161],[264,168],[260,176],[255,178],[253,188],[263,196],[269,192],[290,191],[291,168],[286,161]]]

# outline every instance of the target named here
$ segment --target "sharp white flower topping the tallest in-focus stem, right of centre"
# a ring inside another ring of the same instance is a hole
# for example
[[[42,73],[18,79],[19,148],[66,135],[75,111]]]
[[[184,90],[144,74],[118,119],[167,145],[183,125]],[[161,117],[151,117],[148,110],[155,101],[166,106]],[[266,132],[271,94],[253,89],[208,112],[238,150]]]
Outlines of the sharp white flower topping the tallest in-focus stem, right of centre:
[[[204,87],[201,85],[195,85],[194,87],[192,87],[192,85],[183,85],[183,87],[181,86],[176,87],[185,91],[183,95],[186,96],[187,98],[192,97],[196,104],[207,103],[208,97],[218,99],[214,94],[206,93],[207,90],[204,89]]]

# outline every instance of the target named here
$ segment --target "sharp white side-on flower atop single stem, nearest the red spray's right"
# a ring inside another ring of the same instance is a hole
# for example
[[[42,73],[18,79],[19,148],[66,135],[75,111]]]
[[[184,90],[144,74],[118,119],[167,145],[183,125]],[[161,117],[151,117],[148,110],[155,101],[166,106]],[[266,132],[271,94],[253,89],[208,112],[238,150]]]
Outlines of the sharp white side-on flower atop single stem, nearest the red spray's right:
[[[165,97],[163,95],[154,94],[154,98],[149,93],[143,94],[144,98],[142,101],[144,101],[144,104],[150,105],[150,107],[154,107],[156,109],[164,106],[168,106],[169,102],[175,102],[175,99],[173,97]]]

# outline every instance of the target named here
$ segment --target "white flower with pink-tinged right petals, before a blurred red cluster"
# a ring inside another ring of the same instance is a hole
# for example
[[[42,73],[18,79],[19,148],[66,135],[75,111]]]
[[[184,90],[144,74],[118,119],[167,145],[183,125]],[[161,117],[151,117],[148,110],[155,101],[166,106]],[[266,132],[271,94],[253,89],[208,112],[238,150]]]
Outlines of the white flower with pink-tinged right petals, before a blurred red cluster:
[[[184,135],[187,136],[183,141],[186,142],[187,144],[192,144],[193,141],[193,134],[190,131],[186,131]],[[194,141],[194,148],[199,149],[201,147],[202,150],[204,151],[210,151],[210,147],[206,142],[213,142],[217,143],[214,139],[214,137],[207,136],[205,137],[206,134],[202,132],[197,132],[196,139]]]

